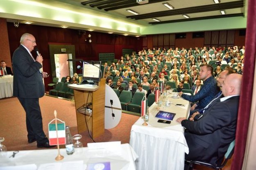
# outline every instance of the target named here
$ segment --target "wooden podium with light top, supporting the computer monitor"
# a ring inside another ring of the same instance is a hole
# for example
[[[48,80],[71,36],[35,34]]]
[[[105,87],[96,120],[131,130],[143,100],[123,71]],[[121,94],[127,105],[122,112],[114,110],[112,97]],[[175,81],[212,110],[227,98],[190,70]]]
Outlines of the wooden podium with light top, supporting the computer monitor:
[[[77,114],[77,129],[78,133],[87,130],[85,115],[77,111],[78,108],[86,103],[92,103],[92,114],[86,115],[88,128],[91,131],[91,136],[94,139],[104,134],[104,112],[105,112],[105,83],[106,79],[101,79],[98,86],[86,86],[69,84],[68,87],[74,89],[75,108]]]

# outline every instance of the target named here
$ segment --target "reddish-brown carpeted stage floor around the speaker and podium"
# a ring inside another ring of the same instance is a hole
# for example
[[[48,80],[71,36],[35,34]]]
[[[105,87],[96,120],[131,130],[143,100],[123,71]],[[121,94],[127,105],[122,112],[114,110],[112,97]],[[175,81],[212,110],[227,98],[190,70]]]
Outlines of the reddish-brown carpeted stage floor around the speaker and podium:
[[[54,110],[57,110],[57,117],[70,126],[72,135],[77,134],[77,121],[75,105],[72,102],[54,97],[44,96],[40,98],[40,107],[43,117],[43,129],[48,136],[48,123],[54,119]],[[25,123],[25,111],[16,97],[0,99],[0,137],[5,137],[3,144],[7,150],[34,150],[36,142],[27,143],[27,130]],[[122,113],[118,126],[106,130],[104,135],[97,137],[96,142],[121,141],[122,144],[129,143],[131,126],[138,119],[138,116]],[[88,132],[82,132],[80,141],[84,146],[92,140]],[[64,148],[65,146],[61,146]]]

